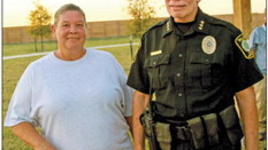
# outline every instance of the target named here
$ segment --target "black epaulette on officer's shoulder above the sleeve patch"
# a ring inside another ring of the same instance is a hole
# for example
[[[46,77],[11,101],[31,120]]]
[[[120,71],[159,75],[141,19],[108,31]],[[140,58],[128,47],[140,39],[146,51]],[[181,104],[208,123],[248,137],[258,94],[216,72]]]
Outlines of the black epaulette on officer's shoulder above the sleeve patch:
[[[233,24],[231,24],[231,23],[229,23],[229,22],[227,22],[227,21],[224,21],[224,20],[215,18],[215,17],[213,17],[213,16],[209,16],[209,17],[207,17],[206,20],[207,20],[207,22],[209,22],[210,24],[224,26],[224,27],[226,27],[227,29],[229,29],[231,32],[235,33],[235,34],[240,33],[240,30],[239,30],[238,28],[236,28]]]

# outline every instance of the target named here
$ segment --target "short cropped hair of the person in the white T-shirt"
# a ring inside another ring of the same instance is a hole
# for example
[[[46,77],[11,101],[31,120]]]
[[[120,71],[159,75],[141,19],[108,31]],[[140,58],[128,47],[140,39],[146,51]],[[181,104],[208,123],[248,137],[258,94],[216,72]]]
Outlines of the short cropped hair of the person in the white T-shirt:
[[[75,11],[78,11],[84,18],[84,21],[86,23],[86,19],[85,19],[85,13],[84,11],[78,7],[77,5],[75,4],[72,4],[72,3],[69,3],[69,4],[65,4],[63,6],[61,6],[55,13],[54,15],[54,25],[57,26],[58,24],[58,21],[59,21],[59,17],[61,14],[65,13],[66,11],[71,11],[71,10],[75,10]]]

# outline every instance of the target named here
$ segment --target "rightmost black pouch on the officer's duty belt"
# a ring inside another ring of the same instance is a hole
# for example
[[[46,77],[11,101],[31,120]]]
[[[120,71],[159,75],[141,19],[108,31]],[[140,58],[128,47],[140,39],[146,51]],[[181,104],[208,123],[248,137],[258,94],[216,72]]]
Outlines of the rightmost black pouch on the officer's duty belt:
[[[243,137],[243,131],[239,124],[239,118],[234,105],[231,105],[220,112],[220,116],[231,144],[235,145],[239,143]]]

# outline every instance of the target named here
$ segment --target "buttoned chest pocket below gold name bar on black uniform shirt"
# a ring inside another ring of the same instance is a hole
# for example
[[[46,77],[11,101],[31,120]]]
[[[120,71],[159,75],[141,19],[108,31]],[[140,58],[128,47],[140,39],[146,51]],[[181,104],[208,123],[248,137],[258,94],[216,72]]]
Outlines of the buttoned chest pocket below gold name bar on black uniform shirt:
[[[150,56],[145,60],[144,68],[150,78],[153,89],[162,89],[167,86],[169,76],[170,54]]]

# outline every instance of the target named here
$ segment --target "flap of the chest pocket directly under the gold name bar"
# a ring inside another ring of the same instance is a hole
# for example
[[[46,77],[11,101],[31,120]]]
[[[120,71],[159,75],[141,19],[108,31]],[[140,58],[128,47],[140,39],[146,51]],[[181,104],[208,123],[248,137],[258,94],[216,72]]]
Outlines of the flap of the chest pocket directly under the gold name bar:
[[[144,68],[154,68],[160,65],[168,65],[170,62],[170,54],[159,54],[150,56],[145,60]]]

